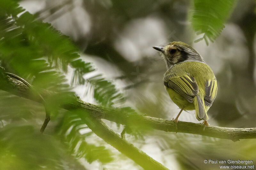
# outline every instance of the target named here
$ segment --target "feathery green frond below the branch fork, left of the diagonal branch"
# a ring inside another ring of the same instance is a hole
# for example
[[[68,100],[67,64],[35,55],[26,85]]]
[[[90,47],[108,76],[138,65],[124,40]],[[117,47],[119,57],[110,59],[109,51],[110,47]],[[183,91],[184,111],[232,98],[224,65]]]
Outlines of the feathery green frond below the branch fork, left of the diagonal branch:
[[[81,131],[84,130],[87,132],[82,134]],[[96,146],[85,141],[85,138],[90,136],[92,132],[75,111],[65,115],[60,122],[57,133],[61,135],[60,138],[65,139],[65,145],[69,147],[70,152],[76,158],[84,158],[89,163],[96,160],[101,163],[108,163],[113,160],[110,150],[104,146]]]

